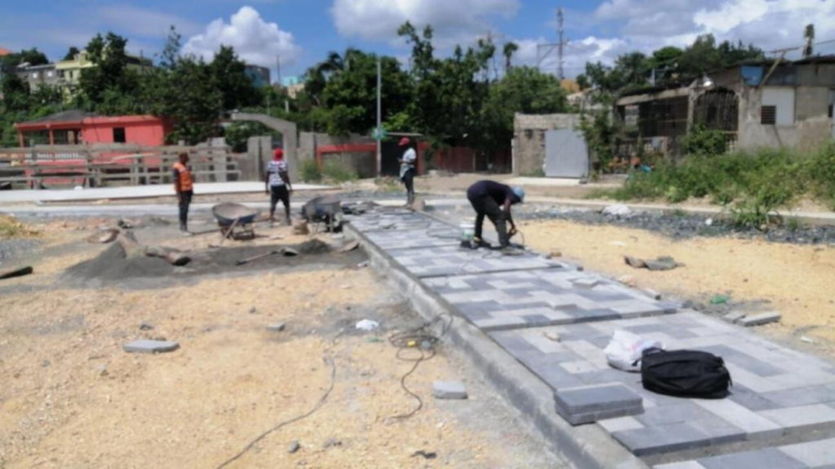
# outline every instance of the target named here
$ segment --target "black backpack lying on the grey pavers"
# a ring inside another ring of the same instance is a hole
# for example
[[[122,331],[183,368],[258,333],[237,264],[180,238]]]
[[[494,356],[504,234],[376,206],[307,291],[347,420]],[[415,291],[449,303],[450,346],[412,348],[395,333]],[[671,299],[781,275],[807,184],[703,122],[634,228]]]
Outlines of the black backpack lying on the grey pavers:
[[[699,351],[649,348],[640,360],[644,389],[680,397],[722,398],[733,385],[722,357]]]

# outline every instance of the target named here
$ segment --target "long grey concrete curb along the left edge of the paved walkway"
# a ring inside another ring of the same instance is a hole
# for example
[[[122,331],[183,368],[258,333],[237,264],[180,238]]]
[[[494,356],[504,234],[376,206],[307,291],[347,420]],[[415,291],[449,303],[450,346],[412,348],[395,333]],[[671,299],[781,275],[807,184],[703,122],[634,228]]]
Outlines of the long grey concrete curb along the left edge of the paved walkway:
[[[475,326],[452,313],[454,309],[446,301],[399,267],[394,258],[363,233],[350,224],[345,231],[348,237],[360,242],[374,269],[401,291],[426,321],[434,321],[439,316],[452,318],[445,340],[463,352],[488,382],[531,419],[534,427],[551,443],[552,451],[584,469],[649,469],[649,466],[612,440],[597,424],[572,427],[564,421],[557,414],[553,391],[547,384]]]

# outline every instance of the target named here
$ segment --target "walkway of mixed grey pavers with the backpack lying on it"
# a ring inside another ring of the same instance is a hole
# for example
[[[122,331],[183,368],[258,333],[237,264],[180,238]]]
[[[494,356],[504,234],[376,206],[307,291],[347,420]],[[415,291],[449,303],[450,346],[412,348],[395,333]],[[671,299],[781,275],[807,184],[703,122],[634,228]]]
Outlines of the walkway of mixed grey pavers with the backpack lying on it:
[[[458,229],[426,215],[388,210],[351,223],[547,383],[566,420],[596,422],[648,464],[663,469],[835,465],[834,446],[824,441],[835,435],[832,364],[573,265],[533,253],[459,250]],[[706,401],[644,390],[638,375],[606,362],[603,347],[615,329],[661,341],[668,350],[722,356],[734,380],[732,395]],[[716,453],[730,454],[710,456]],[[703,457],[687,460],[694,454]]]

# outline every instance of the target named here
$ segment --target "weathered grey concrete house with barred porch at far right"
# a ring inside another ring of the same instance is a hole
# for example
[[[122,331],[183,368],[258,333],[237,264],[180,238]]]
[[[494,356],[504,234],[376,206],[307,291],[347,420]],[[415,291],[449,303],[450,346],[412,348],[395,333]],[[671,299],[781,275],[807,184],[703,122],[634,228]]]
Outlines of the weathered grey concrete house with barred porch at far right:
[[[689,86],[622,96],[615,116],[635,144],[680,155],[696,125],[725,132],[730,149],[811,150],[833,139],[835,55],[746,62],[712,72]],[[627,142],[630,143],[630,142]]]

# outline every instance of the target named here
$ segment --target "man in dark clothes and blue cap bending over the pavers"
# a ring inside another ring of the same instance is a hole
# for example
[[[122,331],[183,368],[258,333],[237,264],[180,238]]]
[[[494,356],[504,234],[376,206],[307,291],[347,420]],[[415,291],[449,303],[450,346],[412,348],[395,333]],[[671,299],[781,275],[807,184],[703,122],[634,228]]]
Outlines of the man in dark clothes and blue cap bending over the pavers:
[[[525,191],[521,187],[511,188],[493,180],[482,180],[470,186],[466,198],[476,213],[473,238],[475,244],[489,245],[482,239],[484,216],[487,215],[496,227],[496,232],[499,233],[499,248],[509,248],[510,238],[516,234],[516,225],[513,223],[510,207],[525,200]],[[507,231],[506,221],[510,223],[510,232]]]

